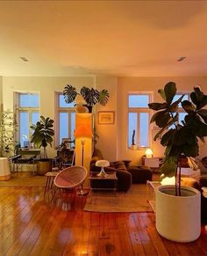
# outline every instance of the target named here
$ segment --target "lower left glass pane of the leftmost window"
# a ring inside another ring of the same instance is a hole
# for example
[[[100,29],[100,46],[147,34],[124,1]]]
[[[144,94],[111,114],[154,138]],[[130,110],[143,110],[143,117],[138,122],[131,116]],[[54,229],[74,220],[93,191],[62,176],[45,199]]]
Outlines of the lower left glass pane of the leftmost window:
[[[27,112],[19,113],[19,140],[21,147],[24,147],[24,142],[29,141],[29,114]]]

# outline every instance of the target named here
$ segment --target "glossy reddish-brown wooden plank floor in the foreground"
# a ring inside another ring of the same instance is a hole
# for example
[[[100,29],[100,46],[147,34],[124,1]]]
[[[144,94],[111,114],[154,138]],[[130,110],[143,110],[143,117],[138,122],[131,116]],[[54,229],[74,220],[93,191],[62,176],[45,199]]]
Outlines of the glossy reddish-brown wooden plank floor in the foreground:
[[[196,242],[179,244],[158,235],[153,213],[84,212],[82,197],[68,211],[46,201],[42,187],[0,187],[0,255],[207,255],[203,227]]]

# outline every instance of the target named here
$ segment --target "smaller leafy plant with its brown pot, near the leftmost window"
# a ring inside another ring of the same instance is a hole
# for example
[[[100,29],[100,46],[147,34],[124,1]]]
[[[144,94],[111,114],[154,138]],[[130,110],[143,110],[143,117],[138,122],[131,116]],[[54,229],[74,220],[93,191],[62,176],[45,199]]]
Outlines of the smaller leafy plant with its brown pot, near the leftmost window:
[[[44,175],[46,172],[51,172],[52,170],[52,161],[47,158],[46,147],[48,144],[52,146],[54,140],[53,127],[54,121],[49,117],[45,118],[42,115],[40,116],[40,120],[31,127],[34,130],[31,143],[33,143],[36,148],[43,147],[43,158],[38,161],[37,172],[39,175]]]

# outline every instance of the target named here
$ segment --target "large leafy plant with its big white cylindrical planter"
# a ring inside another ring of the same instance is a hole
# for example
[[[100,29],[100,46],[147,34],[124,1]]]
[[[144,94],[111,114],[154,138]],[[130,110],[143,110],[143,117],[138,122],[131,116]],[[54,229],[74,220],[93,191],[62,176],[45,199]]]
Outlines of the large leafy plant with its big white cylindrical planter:
[[[166,147],[161,165],[162,177],[175,176],[175,186],[161,186],[156,190],[156,229],[162,237],[176,242],[190,242],[200,235],[200,192],[193,187],[181,186],[181,161],[188,157],[189,165],[195,169],[194,158],[199,153],[198,140],[204,142],[207,135],[207,96],[195,87],[189,100],[174,101],[176,85],[169,82],[164,90],[158,91],[162,103],[151,103],[156,111],[151,123],[155,122],[161,130],[154,140],[160,138]],[[178,105],[186,112],[182,123],[178,122]]]

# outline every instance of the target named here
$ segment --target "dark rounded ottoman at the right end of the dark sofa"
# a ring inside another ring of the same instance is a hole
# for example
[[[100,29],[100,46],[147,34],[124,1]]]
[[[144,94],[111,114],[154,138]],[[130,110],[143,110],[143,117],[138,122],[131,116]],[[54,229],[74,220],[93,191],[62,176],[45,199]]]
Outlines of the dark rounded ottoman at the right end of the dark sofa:
[[[153,180],[151,169],[145,165],[131,165],[127,171],[132,174],[132,183],[146,183],[146,180]]]

